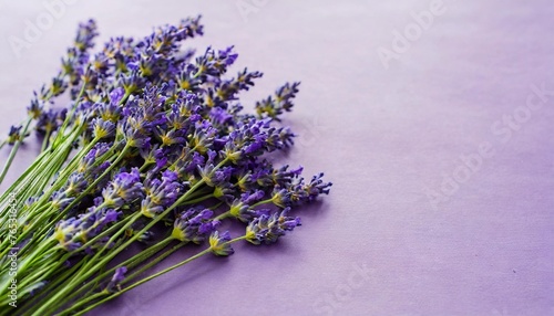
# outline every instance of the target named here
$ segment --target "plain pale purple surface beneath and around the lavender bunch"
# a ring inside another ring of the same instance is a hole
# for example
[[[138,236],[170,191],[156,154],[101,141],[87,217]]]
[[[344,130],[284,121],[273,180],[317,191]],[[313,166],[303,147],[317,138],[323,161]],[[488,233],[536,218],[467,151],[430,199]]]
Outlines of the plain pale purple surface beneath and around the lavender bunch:
[[[91,315],[553,315],[554,95],[510,139],[491,130],[525,114],[532,85],[554,91],[552,1],[444,0],[388,69],[378,49],[432,1],[266,2],[76,1],[18,57],[9,36],[48,11],[0,1],[3,130],[57,72],[78,21],[96,19],[104,41],[202,13],[195,46],[235,44],[239,66],[265,73],[247,104],[302,82],[286,119],[301,136],[280,159],[335,182],[279,244],[201,259]],[[433,207],[428,192],[483,143],[495,155]],[[28,141],[9,181],[37,148]]]

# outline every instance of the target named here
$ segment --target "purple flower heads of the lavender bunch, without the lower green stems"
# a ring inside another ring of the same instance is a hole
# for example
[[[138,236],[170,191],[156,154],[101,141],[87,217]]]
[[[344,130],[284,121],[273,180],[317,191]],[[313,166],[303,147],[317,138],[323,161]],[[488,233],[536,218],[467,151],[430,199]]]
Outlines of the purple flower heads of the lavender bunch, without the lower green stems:
[[[257,102],[254,114],[245,112],[240,94],[263,74],[228,75],[238,57],[233,46],[199,54],[182,49],[202,34],[198,17],[138,40],[113,38],[92,53],[98,29],[88,21],[62,71],[34,94],[28,113],[45,148],[76,145],[76,154],[49,180],[51,194],[31,197],[25,208],[47,210],[40,219],[52,230],[44,239],[75,268],[145,235],[207,243],[214,254],[229,255],[234,239],[220,230],[227,219],[245,224],[244,240],[274,243],[300,225],[290,212],[329,193],[324,173],[306,180],[301,167],[270,160],[294,145],[281,116],[293,109],[299,83],[286,83]],[[65,92],[68,106],[52,106]],[[12,127],[9,139],[24,136]],[[116,292],[131,271],[117,266],[99,284]]]

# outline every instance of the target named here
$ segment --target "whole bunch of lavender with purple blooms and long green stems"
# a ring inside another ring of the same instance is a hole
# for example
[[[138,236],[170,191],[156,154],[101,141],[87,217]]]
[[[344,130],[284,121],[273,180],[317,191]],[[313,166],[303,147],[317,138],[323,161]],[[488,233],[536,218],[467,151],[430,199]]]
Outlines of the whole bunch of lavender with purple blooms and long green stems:
[[[80,25],[61,72],[0,145],[12,145],[1,181],[30,128],[43,137],[0,197],[0,304],[11,306],[0,316],[81,315],[205,254],[230,255],[235,242],[274,243],[300,225],[294,209],[329,192],[322,173],[305,180],[301,167],[269,160],[294,144],[280,117],[299,83],[244,113],[239,94],[261,73],[227,76],[233,48],[196,57],[181,48],[202,34],[197,17],[92,53],[96,25]],[[220,229],[233,220],[244,234]],[[148,274],[189,244],[205,246]]]

